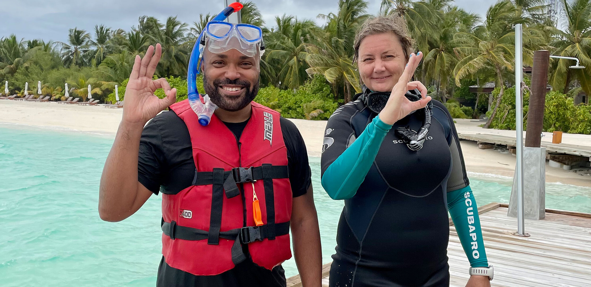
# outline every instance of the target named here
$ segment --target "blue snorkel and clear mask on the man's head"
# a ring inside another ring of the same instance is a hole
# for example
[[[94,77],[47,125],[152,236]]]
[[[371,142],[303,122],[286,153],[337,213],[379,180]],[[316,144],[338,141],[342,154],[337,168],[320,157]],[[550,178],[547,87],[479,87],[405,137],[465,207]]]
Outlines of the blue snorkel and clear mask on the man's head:
[[[202,102],[197,91],[196,77],[203,60],[203,49],[207,47],[207,50],[215,54],[236,49],[248,57],[254,57],[256,53],[262,56],[265,51],[261,28],[251,24],[232,24],[223,21],[242,7],[243,5],[239,2],[234,2],[217,14],[212,21],[207,22],[191,52],[189,69],[187,69],[188,98],[191,109],[199,116],[199,123],[203,126],[209,124],[213,112],[217,109],[207,94],[203,96]]]

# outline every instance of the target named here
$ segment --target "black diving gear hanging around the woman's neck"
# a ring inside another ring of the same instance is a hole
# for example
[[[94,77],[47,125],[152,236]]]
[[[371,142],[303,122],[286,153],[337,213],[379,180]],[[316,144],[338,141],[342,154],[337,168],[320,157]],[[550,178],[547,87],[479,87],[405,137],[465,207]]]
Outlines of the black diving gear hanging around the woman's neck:
[[[411,102],[417,102],[417,100],[421,99],[421,92],[419,92],[417,89],[414,89],[408,91],[406,94],[404,94],[404,96],[407,97],[407,99]],[[390,93],[371,92],[369,89],[367,89],[363,95],[363,102],[365,103],[365,106],[368,107],[368,109],[370,109],[372,112],[379,113],[386,106],[389,97]],[[418,132],[410,129],[410,126],[404,126],[395,129],[395,134],[398,136],[398,138],[406,142],[408,148],[413,151],[418,151],[423,148],[423,144],[427,139],[429,128],[431,127],[433,103],[428,102],[427,106],[421,110],[424,112],[424,119],[423,125],[421,125],[421,129],[419,129]]]

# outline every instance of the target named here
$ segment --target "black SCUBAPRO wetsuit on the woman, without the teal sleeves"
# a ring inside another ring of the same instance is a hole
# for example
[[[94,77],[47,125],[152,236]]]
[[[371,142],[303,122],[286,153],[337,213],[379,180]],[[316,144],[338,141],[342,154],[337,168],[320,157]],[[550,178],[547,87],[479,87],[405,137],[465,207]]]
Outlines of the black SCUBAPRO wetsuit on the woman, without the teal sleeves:
[[[334,143],[323,152],[323,174],[375,116],[361,100],[333,114],[326,129]],[[422,123],[418,112],[395,123],[358,191],[345,200],[330,286],[449,286],[446,193],[469,182],[453,119],[440,102],[433,100],[420,151],[394,133],[406,125],[418,131]]]

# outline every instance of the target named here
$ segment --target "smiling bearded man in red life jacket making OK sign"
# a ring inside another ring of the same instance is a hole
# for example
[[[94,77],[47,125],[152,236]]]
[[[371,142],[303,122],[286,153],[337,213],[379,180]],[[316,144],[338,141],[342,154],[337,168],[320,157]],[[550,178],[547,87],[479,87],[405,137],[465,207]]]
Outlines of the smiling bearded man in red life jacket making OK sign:
[[[218,107],[206,126],[193,103],[175,103],[165,79],[152,80],[160,44],[136,56],[100,181],[100,218],[124,220],[163,194],[157,286],[285,286],[290,229],[303,286],[320,286],[306,146],[293,123],[252,102],[261,44],[206,41],[203,84]]]

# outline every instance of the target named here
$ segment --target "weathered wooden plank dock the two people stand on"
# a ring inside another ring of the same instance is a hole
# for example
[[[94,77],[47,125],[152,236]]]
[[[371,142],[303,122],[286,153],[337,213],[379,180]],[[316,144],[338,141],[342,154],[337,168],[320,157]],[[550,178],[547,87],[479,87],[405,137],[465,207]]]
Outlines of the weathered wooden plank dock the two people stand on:
[[[486,256],[495,266],[493,287],[591,286],[591,214],[546,210],[543,220],[525,220],[530,237],[514,236],[517,218],[507,217],[506,204],[478,208]],[[450,219],[447,247],[450,286],[465,287],[470,267]],[[330,263],[323,265],[322,285],[329,286]],[[300,276],[287,279],[300,287]]]

